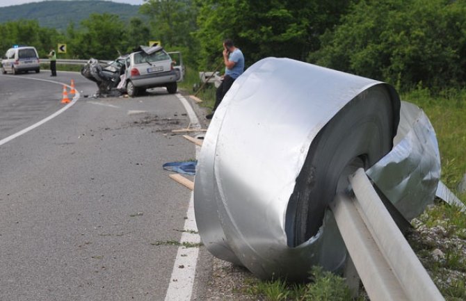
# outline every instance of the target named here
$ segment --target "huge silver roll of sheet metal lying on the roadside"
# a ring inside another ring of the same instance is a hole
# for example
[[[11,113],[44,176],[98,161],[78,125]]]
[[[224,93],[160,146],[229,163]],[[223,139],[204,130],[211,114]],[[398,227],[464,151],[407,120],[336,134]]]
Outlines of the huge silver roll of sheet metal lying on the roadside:
[[[252,65],[217,108],[198,158],[195,217],[207,250],[263,279],[342,268],[328,203],[348,174],[392,149],[399,109],[387,83],[287,58]]]

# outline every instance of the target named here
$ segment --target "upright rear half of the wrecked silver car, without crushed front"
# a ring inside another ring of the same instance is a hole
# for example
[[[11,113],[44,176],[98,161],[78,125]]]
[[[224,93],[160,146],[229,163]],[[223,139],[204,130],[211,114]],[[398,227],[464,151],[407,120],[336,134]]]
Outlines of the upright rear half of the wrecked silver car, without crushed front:
[[[161,46],[140,46],[138,51],[129,54],[125,60],[128,95],[133,97],[142,90],[155,87],[166,87],[168,93],[176,93],[177,81],[182,80],[184,70],[180,66],[175,67],[175,64]]]

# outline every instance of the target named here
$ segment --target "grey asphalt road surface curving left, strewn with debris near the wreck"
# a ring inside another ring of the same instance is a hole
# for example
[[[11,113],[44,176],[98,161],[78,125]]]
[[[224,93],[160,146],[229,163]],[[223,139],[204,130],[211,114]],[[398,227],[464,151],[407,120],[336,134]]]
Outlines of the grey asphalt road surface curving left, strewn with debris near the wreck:
[[[195,158],[171,132],[186,111],[163,89],[93,99],[77,73],[0,75],[0,140],[62,108],[71,79],[74,106],[0,145],[0,300],[164,300],[191,192],[162,165]]]

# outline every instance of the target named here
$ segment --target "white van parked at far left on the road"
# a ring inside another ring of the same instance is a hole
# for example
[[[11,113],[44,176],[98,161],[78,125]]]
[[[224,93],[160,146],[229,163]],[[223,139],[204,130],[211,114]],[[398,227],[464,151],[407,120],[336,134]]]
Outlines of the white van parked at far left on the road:
[[[32,46],[8,49],[1,60],[1,65],[3,66],[3,74],[6,74],[6,72],[13,74],[28,71],[40,72],[38,51]]]

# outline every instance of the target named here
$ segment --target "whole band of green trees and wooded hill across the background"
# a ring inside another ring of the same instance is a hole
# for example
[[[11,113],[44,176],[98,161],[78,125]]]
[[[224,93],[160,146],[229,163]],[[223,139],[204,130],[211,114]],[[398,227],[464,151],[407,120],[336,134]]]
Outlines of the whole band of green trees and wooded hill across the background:
[[[58,3],[63,1],[40,5],[57,12]],[[18,6],[31,8],[26,14],[29,21],[0,24],[0,51],[12,44],[33,44],[46,54],[50,45],[61,42],[68,46],[67,58],[109,59],[138,44],[160,40],[163,47],[183,51],[189,65],[211,70],[222,60],[223,39],[232,38],[243,51],[246,66],[276,56],[387,81],[401,89],[421,86],[442,90],[466,84],[466,1],[147,0],[142,6],[104,1],[65,4],[64,11],[75,15],[90,5],[93,11],[103,7],[105,13],[91,14],[77,24],[69,23],[66,31],[56,32],[31,17],[37,3]],[[113,7],[127,11],[111,13]],[[124,16],[130,8],[139,10],[142,17],[133,17],[128,24]],[[62,16],[58,12],[54,15]]]

